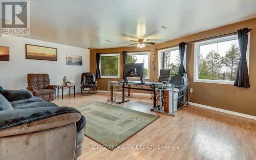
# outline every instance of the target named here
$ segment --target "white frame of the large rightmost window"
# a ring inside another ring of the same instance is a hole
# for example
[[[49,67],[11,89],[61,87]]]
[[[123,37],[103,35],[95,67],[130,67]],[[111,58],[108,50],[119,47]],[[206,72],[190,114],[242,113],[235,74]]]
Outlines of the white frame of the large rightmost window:
[[[225,36],[215,39],[209,39],[204,40],[200,42],[195,42],[195,51],[194,51],[194,82],[202,82],[202,83],[216,83],[216,84],[229,84],[233,85],[234,81],[226,81],[226,80],[209,80],[209,79],[199,79],[199,49],[201,45],[206,44],[212,44],[217,42],[224,42],[229,40],[236,40],[238,39],[238,35],[231,35],[231,36]],[[249,72],[249,48],[250,48],[250,33],[248,34],[248,45],[247,45],[247,51],[246,51],[246,61],[248,66],[248,72]]]

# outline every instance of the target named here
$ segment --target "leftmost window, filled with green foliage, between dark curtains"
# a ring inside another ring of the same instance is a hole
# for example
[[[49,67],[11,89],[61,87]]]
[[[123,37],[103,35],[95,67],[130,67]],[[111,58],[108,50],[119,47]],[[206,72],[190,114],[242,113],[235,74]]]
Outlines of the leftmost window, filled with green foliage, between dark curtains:
[[[101,54],[99,67],[102,78],[119,78],[119,53]]]

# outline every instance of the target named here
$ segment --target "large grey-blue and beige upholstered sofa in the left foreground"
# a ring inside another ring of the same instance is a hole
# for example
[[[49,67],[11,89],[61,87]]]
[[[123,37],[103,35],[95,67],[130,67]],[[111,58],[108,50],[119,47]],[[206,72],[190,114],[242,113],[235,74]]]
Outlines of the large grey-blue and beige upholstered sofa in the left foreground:
[[[86,119],[72,107],[0,90],[0,160],[73,160],[81,155]]]

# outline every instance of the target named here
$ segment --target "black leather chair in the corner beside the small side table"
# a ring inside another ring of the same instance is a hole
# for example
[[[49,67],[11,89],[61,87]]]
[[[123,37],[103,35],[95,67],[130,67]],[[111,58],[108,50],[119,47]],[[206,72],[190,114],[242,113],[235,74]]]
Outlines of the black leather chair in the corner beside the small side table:
[[[97,93],[97,81],[93,73],[82,73],[81,75],[81,94],[86,95],[91,93],[91,89],[94,94]]]

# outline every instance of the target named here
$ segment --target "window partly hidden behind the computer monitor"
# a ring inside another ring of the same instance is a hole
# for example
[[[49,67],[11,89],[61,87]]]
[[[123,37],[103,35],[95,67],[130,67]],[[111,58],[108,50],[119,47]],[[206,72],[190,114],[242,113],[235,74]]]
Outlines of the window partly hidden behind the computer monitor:
[[[144,63],[144,77],[150,78],[150,52],[127,53],[126,63]]]

